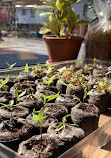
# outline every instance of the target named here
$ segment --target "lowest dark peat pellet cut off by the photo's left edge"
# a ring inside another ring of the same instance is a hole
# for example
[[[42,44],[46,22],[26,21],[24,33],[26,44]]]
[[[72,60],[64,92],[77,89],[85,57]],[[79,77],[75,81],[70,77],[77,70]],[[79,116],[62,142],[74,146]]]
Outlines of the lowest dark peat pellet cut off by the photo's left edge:
[[[32,126],[24,119],[4,120],[0,123],[0,143],[17,151],[20,142],[31,136],[31,130]]]

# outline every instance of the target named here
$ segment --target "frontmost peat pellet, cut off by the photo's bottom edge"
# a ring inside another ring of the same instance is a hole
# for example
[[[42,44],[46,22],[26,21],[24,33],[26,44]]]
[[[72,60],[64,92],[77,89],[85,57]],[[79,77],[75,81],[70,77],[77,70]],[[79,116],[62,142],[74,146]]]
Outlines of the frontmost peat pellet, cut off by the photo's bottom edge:
[[[43,134],[42,145],[40,139],[41,137],[38,135],[22,142],[18,153],[26,158],[57,158],[60,155],[59,144],[54,138]]]

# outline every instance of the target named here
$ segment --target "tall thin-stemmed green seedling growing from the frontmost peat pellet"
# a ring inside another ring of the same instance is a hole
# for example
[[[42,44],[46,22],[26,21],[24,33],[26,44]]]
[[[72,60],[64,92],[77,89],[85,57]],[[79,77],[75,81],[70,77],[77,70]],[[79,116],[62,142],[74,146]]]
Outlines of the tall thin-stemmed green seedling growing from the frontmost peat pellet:
[[[33,118],[32,120],[36,121],[40,126],[40,135],[41,135],[41,146],[42,146],[42,121],[45,119],[44,116],[45,106],[41,108],[38,115],[35,114],[35,109],[33,109]]]

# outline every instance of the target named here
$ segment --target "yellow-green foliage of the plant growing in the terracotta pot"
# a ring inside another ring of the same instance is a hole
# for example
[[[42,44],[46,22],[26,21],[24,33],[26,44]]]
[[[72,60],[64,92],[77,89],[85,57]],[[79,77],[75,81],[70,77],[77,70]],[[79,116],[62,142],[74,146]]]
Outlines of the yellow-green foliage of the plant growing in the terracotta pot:
[[[76,25],[87,24],[88,20],[76,15],[72,4],[80,0],[41,0],[44,5],[37,8],[43,9],[41,17],[48,17],[39,31],[41,34],[52,32],[56,37],[70,38]],[[47,11],[48,10],[48,11]]]

